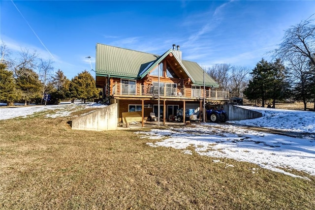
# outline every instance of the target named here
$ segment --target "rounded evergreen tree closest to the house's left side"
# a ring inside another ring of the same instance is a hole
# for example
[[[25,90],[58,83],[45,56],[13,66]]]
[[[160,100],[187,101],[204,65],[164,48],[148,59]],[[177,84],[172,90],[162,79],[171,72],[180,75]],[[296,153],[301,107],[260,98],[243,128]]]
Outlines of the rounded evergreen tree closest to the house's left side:
[[[87,70],[79,73],[71,80],[70,92],[72,101],[78,98],[84,100],[85,103],[87,100],[94,99],[98,94],[94,77]]]

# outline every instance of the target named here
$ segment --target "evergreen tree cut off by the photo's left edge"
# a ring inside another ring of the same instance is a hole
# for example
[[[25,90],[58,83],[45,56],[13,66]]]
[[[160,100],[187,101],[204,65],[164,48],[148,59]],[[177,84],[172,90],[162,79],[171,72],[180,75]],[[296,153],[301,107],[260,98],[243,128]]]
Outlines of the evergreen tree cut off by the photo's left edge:
[[[6,64],[0,63],[0,101],[13,106],[14,101],[19,99],[19,91],[16,89],[13,72],[6,67]]]

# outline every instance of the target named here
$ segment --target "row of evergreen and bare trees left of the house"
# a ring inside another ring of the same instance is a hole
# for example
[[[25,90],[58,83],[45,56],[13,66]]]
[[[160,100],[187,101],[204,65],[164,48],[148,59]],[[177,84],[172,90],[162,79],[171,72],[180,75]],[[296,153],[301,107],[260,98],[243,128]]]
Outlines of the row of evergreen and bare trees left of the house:
[[[94,77],[86,70],[69,80],[61,69],[56,72],[52,60],[43,60],[36,51],[21,49],[17,58],[2,41],[0,45],[0,102],[29,105],[59,104],[81,99],[84,103],[98,96]]]

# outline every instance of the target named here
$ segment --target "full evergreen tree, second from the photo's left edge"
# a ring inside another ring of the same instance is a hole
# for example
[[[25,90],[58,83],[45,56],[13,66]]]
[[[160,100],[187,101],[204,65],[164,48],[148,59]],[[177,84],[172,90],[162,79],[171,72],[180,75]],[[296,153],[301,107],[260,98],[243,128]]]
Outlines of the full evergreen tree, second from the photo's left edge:
[[[24,68],[16,70],[16,85],[22,91],[22,100],[25,105],[30,104],[31,100],[41,97],[42,84],[38,79],[38,75],[32,69]]]

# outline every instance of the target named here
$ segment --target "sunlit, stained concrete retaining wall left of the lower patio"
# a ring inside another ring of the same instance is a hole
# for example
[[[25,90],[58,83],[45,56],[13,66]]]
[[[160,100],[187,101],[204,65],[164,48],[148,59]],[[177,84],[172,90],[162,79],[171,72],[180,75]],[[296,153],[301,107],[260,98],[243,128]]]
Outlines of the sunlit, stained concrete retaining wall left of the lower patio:
[[[117,130],[117,103],[78,117],[71,122],[74,130]]]

